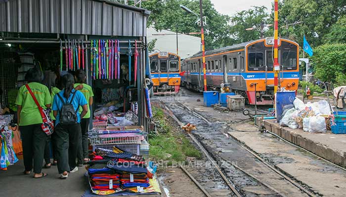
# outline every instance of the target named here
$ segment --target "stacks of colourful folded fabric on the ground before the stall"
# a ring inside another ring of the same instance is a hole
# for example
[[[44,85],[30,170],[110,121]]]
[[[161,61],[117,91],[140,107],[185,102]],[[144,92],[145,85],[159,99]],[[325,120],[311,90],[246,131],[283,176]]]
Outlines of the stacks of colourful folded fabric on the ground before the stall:
[[[152,173],[146,168],[142,156],[123,151],[95,148],[88,162],[88,175],[94,194],[119,191],[142,191],[150,188]]]

